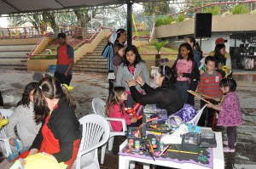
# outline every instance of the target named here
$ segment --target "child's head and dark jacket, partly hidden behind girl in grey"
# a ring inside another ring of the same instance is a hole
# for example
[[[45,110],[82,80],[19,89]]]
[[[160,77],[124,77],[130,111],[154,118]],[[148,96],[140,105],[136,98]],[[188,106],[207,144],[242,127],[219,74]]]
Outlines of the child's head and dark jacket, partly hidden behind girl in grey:
[[[116,77],[118,66],[122,63],[122,59],[125,54],[125,46],[120,43],[113,45],[113,73]]]

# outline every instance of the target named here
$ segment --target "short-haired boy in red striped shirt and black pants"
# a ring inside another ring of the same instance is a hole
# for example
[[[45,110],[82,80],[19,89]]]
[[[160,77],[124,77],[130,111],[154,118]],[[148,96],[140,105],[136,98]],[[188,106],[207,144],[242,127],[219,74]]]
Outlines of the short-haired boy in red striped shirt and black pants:
[[[206,71],[200,77],[200,82],[197,87],[197,92],[210,96],[213,99],[203,97],[204,99],[209,100],[212,104],[218,104],[222,97],[222,93],[219,89],[219,82],[222,79],[221,74],[214,70],[216,61],[212,56],[207,56],[205,59]],[[207,104],[201,100],[201,108]],[[201,114],[201,118],[198,121],[198,126],[205,127],[205,121],[207,119],[207,127],[212,127],[214,125],[213,119],[216,110],[211,108],[206,108]],[[213,127],[212,127],[213,128]]]

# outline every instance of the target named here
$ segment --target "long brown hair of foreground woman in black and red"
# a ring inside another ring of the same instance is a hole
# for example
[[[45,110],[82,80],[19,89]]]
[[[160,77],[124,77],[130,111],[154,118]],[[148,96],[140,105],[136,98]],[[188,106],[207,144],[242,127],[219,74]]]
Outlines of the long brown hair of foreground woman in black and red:
[[[36,122],[43,121],[45,116],[49,113],[49,108],[45,98],[60,99],[66,96],[67,103],[73,110],[76,109],[76,104],[73,98],[69,95],[67,88],[64,87],[55,77],[44,77],[39,82],[38,88],[34,91],[34,112]]]

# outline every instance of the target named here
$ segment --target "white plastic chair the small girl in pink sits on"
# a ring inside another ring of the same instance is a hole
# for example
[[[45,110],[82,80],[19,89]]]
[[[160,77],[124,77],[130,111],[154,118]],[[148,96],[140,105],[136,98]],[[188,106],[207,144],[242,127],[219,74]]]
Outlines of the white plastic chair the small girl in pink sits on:
[[[125,119],[107,117],[107,115],[106,115],[106,103],[102,99],[99,99],[99,98],[92,99],[91,104],[92,104],[92,109],[93,109],[95,114],[102,115],[103,117],[105,117],[106,120],[108,120],[108,124],[109,124],[109,127],[110,127],[110,136],[109,136],[109,139],[108,139],[108,150],[111,151],[113,149],[113,137],[114,136],[125,136],[125,132],[127,132]],[[120,121],[120,122],[122,122],[123,131],[122,132],[113,132],[113,128],[112,128],[109,121]],[[107,144],[102,147],[102,157],[101,157],[101,163],[102,164],[104,163],[104,156],[105,156],[105,152],[106,152],[106,146],[107,146]]]

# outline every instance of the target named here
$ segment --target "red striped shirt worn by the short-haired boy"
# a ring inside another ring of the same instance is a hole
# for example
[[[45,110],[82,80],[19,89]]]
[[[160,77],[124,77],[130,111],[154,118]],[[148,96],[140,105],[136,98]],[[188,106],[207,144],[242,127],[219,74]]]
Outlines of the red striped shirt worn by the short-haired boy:
[[[205,94],[212,98],[221,98],[222,93],[219,88],[219,82],[221,81],[222,76],[216,70],[212,74],[208,74],[207,71],[203,73],[200,77],[200,82],[197,87],[197,92]]]

